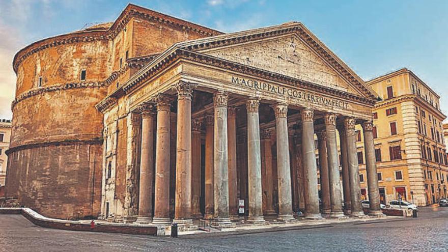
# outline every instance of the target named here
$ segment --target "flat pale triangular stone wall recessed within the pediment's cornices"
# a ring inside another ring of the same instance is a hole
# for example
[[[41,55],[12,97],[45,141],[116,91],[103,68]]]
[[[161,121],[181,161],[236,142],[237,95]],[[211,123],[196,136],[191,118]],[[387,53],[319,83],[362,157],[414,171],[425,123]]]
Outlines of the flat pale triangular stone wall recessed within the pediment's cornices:
[[[215,48],[203,53],[328,88],[362,95],[294,34],[226,48]]]

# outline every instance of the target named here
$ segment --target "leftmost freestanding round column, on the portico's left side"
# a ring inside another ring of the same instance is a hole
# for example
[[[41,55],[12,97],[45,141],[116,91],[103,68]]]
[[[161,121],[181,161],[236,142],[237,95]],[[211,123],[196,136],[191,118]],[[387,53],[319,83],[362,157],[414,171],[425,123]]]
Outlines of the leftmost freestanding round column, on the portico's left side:
[[[154,189],[154,113],[150,105],[142,107],[142,144],[140,148],[137,222],[149,223],[152,220],[152,191]]]

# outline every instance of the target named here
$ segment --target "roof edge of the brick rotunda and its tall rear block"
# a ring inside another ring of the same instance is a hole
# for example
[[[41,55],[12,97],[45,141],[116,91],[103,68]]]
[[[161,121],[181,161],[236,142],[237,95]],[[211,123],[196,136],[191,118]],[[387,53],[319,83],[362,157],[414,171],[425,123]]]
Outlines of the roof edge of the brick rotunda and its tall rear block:
[[[51,36],[48,38],[44,38],[38,41],[35,41],[25,47],[23,47],[22,49],[18,50],[17,53],[14,55],[14,59],[12,62],[12,66],[13,66],[13,70],[15,73],[17,73],[17,67],[16,67],[16,62],[18,60],[19,57],[25,57],[26,54],[28,53],[33,53],[34,50],[38,51],[39,47],[37,45],[39,44],[43,44],[44,42],[47,42],[47,44],[42,45],[43,47],[49,47],[52,46],[54,44],[58,44],[58,41],[55,41],[57,39],[67,39],[67,38],[71,38],[71,37],[75,37],[77,35],[81,35],[81,36],[88,36],[89,34],[92,34],[94,36],[104,36],[101,39],[108,39],[108,36],[113,35],[113,32],[115,30],[119,29],[120,23],[122,21],[125,21],[124,23],[127,24],[129,20],[126,20],[125,17],[128,13],[132,12],[132,11],[137,11],[137,12],[144,12],[147,15],[150,15],[154,18],[157,19],[168,19],[168,22],[171,23],[176,23],[179,25],[183,25],[185,27],[190,27],[193,30],[196,31],[201,31],[203,33],[206,33],[210,36],[215,36],[215,35],[220,35],[223,34],[222,32],[219,32],[217,30],[213,30],[210,29],[209,27],[197,24],[197,23],[193,23],[193,22],[189,22],[174,16],[170,16],[170,15],[166,15],[157,11],[153,11],[151,9],[145,8],[145,7],[141,7],[138,5],[134,5],[134,4],[128,4],[126,6],[126,8],[120,13],[120,15],[115,19],[115,21],[113,22],[112,25],[110,25],[110,27],[108,29],[104,29],[103,27],[99,27],[97,29],[91,29],[89,30],[88,28],[85,30],[80,30],[80,31],[74,31],[74,32],[70,32],[70,33],[66,33],[66,34],[60,34],[60,35],[56,35],[56,36]],[[112,36],[115,37],[115,36]],[[30,51],[29,51],[30,50]],[[25,57],[26,58],[26,57]]]

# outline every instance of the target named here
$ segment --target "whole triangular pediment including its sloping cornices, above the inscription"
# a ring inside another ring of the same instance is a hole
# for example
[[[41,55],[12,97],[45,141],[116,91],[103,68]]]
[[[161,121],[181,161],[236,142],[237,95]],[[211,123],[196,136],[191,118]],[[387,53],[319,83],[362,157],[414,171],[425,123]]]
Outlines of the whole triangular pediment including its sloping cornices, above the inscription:
[[[378,97],[301,23],[193,40],[179,47],[361,97]]]

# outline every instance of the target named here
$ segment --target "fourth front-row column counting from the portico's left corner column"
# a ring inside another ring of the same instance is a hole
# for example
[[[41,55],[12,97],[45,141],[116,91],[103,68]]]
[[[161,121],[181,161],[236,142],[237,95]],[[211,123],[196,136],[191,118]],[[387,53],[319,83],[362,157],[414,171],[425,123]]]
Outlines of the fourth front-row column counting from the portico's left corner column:
[[[292,212],[291,166],[289,159],[288,106],[274,107],[277,130],[278,220],[294,220]]]

